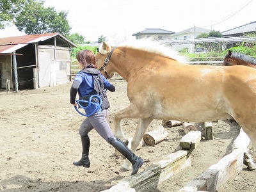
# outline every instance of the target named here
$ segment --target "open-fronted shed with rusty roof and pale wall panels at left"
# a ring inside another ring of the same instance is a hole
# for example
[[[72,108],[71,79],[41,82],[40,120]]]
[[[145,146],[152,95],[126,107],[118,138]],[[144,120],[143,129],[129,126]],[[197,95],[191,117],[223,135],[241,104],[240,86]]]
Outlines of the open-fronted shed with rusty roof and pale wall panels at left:
[[[71,81],[70,48],[59,33],[0,38],[0,88],[35,89]]]

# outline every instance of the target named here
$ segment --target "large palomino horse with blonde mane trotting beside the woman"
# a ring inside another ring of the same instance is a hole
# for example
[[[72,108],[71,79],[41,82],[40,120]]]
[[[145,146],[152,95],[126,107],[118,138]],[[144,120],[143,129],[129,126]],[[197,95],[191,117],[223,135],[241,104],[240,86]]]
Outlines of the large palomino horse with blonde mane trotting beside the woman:
[[[172,49],[148,40],[116,47],[103,42],[96,55],[99,70],[106,77],[115,72],[122,76],[131,102],[115,114],[115,136],[127,140],[121,120],[138,118],[131,145],[135,152],[153,119],[210,122],[233,117],[255,147],[256,70],[188,65],[181,59]],[[122,167],[129,166],[125,161]]]

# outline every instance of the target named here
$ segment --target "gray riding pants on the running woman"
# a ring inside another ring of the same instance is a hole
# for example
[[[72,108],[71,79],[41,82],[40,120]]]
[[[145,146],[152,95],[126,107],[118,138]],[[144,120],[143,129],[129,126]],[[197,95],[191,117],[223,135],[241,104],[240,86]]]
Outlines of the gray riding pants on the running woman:
[[[108,109],[102,110],[99,114],[88,116],[80,126],[79,134],[86,136],[94,128],[104,140],[109,142],[109,139],[115,139],[115,135],[109,127],[108,120]]]

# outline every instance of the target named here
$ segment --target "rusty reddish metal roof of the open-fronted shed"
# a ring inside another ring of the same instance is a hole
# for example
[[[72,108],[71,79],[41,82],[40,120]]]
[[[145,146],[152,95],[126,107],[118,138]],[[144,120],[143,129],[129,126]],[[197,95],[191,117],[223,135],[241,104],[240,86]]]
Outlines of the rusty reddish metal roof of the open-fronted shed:
[[[20,49],[28,44],[35,44],[37,42],[44,42],[49,38],[56,36],[59,41],[65,42],[72,47],[77,47],[76,44],[73,44],[65,38],[64,36],[60,35],[59,33],[44,33],[44,34],[37,34],[37,35],[22,35],[22,36],[10,36],[6,38],[0,38],[0,54],[8,54]]]

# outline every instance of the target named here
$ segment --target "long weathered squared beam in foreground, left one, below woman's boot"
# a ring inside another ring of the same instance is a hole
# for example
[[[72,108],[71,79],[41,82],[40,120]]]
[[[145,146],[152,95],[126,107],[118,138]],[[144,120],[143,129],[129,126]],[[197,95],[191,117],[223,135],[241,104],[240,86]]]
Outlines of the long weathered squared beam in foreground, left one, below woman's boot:
[[[148,166],[143,172],[125,177],[118,184],[104,192],[123,192],[132,189],[135,189],[136,192],[152,191],[164,180],[169,179],[188,166],[191,166],[189,150],[179,150],[164,157],[162,161]]]

